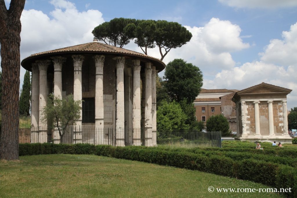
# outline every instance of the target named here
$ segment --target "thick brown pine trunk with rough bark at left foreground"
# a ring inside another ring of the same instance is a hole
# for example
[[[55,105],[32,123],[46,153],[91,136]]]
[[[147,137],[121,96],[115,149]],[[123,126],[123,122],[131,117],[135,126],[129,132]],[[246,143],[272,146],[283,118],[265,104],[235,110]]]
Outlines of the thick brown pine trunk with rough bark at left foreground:
[[[7,10],[0,0],[0,44],[2,68],[2,132],[0,159],[18,159],[20,89],[20,16],[25,0],[11,0]]]

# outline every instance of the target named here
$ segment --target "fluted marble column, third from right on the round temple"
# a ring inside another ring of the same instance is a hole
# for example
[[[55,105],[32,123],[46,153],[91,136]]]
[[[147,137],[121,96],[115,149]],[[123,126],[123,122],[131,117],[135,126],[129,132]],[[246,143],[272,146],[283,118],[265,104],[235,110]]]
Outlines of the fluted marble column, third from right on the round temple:
[[[133,145],[141,145],[140,60],[133,60]]]

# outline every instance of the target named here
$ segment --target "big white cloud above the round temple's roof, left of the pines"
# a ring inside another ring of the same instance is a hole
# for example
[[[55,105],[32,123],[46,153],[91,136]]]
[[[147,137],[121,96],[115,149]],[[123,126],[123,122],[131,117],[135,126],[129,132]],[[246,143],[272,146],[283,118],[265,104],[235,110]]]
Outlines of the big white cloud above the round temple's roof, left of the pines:
[[[91,42],[94,27],[103,23],[98,10],[79,12],[75,4],[52,0],[55,9],[46,15],[42,11],[23,10],[21,21],[21,56]]]

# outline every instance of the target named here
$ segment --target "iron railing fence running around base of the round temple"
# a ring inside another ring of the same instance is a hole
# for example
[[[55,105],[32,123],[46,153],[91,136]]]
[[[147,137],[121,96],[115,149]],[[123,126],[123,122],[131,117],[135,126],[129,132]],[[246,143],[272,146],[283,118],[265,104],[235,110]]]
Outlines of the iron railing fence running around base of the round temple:
[[[221,147],[220,132],[198,132],[189,130],[152,131],[151,128],[114,129],[84,126],[69,126],[61,134],[57,128],[46,127],[20,129],[19,143],[54,144],[103,144],[113,146],[166,146],[166,147]]]

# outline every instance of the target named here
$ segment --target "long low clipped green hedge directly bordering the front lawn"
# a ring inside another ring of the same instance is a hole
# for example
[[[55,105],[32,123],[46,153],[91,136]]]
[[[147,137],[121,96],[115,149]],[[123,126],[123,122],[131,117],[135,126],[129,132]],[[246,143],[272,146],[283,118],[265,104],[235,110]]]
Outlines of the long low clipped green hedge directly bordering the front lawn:
[[[168,165],[190,170],[214,173],[217,175],[251,180],[275,188],[293,188],[288,197],[297,197],[297,169],[272,162],[244,159],[234,161],[226,156],[206,156],[184,149],[162,149],[149,147],[113,147],[109,145],[89,144],[20,144],[19,154],[96,154],[119,159],[129,159]]]

